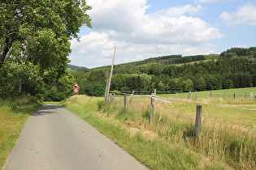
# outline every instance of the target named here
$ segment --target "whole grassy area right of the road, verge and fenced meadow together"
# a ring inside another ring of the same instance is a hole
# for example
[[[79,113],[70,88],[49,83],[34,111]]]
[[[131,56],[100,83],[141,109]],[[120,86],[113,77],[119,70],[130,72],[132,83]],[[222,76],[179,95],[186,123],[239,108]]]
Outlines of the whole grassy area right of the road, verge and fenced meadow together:
[[[255,88],[231,89],[227,93],[234,91]],[[213,94],[218,92],[223,91]],[[195,103],[185,96],[176,99],[176,94],[160,95],[159,100],[154,100],[150,122],[150,97],[134,96],[126,113],[124,99],[118,99],[119,102],[103,104],[102,98],[77,96],[66,100],[63,106],[152,169],[256,168],[255,100],[202,95]],[[173,108],[169,107],[171,104]],[[202,104],[202,129],[194,138],[196,104]]]

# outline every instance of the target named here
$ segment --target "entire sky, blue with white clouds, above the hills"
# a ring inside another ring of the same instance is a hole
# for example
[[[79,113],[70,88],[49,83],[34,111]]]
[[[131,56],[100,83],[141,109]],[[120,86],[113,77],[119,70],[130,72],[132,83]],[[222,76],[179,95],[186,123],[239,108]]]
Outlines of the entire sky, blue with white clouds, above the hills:
[[[87,0],[93,29],[71,40],[75,66],[256,46],[256,0]]]

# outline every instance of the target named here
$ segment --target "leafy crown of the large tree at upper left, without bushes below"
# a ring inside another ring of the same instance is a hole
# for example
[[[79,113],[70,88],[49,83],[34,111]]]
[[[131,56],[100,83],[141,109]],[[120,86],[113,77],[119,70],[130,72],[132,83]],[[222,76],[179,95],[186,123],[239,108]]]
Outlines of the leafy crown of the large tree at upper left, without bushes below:
[[[68,40],[78,38],[83,23],[91,28],[89,9],[85,0],[1,0],[0,68],[11,57],[59,78],[71,53]]]

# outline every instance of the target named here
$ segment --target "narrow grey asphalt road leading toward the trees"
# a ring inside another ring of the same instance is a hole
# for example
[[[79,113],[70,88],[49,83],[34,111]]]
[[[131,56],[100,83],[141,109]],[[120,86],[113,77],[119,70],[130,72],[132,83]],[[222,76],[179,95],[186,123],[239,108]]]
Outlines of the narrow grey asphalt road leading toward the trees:
[[[28,118],[3,169],[147,168],[80,117],[46,105]]]

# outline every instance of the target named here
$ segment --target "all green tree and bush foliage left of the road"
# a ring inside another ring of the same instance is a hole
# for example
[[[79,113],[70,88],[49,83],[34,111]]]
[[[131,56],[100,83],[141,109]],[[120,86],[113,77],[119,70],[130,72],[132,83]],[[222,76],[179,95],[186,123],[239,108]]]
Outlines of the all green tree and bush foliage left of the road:
[[[82,24],[92,28],[85,0],[1,0],[0,97],[63,100],[75,83],[67,72],[70,42]]]

